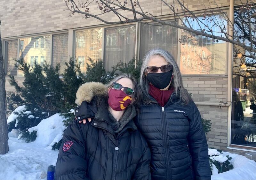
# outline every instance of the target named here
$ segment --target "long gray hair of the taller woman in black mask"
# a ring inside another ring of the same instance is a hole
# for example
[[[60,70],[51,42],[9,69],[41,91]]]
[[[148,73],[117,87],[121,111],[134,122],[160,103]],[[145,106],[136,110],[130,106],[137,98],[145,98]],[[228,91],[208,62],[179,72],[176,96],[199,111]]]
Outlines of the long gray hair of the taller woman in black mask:
[[[171,64],[173,66],[173,79],[170,85],[172,88],[174,88],[173,94],[176,94],[179,96],[179,101],[177,101],[177,103],[188,104],[191,98],[187,90],[183,86],[178,64],[175,62],[174,57],[168,51],[161,48],[151,49],[143,58],[143,62],[140,70],[140,87],[143,95],[143,102],[145,104],[152,104],[153,102],[156,102],[156,101],[152,101],[152,99],[150,98],[150,95],[148,94],[149,81],[145,75],[145,70],[148,66],[148,62],[150,58],[153,56],[161,56],[166,60],[168,64]],[[172,99],[172,96],[171,96],[171,99]]]

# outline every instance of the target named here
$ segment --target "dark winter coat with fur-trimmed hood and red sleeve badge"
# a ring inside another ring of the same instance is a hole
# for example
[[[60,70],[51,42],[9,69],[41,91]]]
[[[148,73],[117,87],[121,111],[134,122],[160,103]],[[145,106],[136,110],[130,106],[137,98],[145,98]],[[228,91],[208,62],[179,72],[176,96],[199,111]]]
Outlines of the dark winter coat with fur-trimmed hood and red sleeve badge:
[[[80,94],[85,97],[83,100],[88,100],[89,96],[91,101],[92,97],[99,93],[98,86],[99,84],[87,83],[79,88],[78,93],[83,93]],[[86,92],[91,94],[88,95]],[[76,102],[82,102],[80,100]],[[92,99],[90,107],[96,113],[92,122],[80,124],[74,120],[64,131],[55,168],[55,179],[151,179],[150,150],[133,122],[136,113],[131,113],[128,116],[128,123],[119,133],[115,133],[108,123],[110,119],[107,102],[102,99],[99,106],[96,107],[96,104],[96,98]],[[83,108],[78,107],[75,111],[79,114]]]

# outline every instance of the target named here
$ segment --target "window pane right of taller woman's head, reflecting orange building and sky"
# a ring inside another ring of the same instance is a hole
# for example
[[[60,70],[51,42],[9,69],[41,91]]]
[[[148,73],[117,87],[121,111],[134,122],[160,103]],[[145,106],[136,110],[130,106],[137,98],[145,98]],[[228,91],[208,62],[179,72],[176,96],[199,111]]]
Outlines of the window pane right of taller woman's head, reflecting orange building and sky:
[[[221,16],[214,17],[217,21],[226,21]],[[199,18],[200,20],[203,19]],[[204,20],[202,20],[204,22]],[[205,22],[213,32],[220,32],[214,21]],[[197,21],[190,21],[195,30],[200,29]],[[227,25],[226,25],[227,26]],[[204,25],[201,24],[201,27]],[[214,35],[220,36],[220,33]],[[182,74],[225,74],[227,63],[227,43],[216,41],[204,36],[196,36],[185,30],[181,30],[180,46],[180,71]]]

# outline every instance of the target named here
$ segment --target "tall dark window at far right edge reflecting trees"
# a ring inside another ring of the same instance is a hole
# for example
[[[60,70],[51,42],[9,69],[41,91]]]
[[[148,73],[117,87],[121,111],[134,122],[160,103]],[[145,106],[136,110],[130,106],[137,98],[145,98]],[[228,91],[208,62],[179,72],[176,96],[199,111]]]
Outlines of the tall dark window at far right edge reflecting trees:
[[[255,7],[234,13],[234,38],[256,49]],[[233,47],[231,144],[256,147],[256,56]]]

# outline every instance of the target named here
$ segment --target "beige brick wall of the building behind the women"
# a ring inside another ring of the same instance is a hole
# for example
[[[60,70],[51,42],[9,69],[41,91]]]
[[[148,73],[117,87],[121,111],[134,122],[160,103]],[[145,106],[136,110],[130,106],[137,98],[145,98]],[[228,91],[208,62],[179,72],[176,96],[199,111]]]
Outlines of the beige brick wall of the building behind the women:
[[[168,0],[168,3],[172,1]],[[188,8],[191,10],[204,10],[205,7],[216,7],[213,2],[209,4],[208,0],[186,0]],[[217,0],[220,7],[228,10],[229,0]],[[141,0],[140,4],[144,11],[153,12],[154,15],[166,15],[169,13],[167,8],[163,8],[159,0]],[[235,2],[238,4],[238,1]],[[210,6],[211,5],[211,6]],[[90,10],[97,9],[93,6]],[[124,15],[132,16],[123,11]],[[1,35],[4,40],[15,39],[15,37],[29,36],[40,33],[58,32],[61,30],[72,30],[81,27],[90,27],[102,25],[99,20],[82,19],[81,15],[68,17],[69,11],[65,7],[64,0],[55,1],[27,1],[27,0],[1,0],[0,1],[0,19]],[[108,16],[107,20],[118,20]],[[70,34],[69,34],[70,37]],[[72,37],[72,35],[71,35]],[[72,43],[71,43],[72,44]],[[70,49],[69,49],[70,51]],[[71,50],[72,52],[72,50]],[[17,77],[16,81],[22,85],[23,78]],[[186,89],[192,93],[195,102],[227,102],[228,101],[228,76],[195,76],[183,77],[183,83]],[[6,78],[6,91],[14,91]],[[230,90],[231,91],[231,90]],[[230,108],[212,105],[198,105],[201,116],[210,119],[212,122],[212,131],[207,134],[209,147],[215,147],[222,150],[233,151],[238,154],[244,154],[246,151],[227,149],[228,146],[228,128],[230,125]]]

